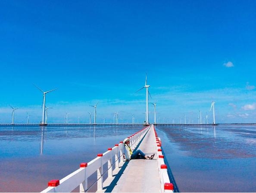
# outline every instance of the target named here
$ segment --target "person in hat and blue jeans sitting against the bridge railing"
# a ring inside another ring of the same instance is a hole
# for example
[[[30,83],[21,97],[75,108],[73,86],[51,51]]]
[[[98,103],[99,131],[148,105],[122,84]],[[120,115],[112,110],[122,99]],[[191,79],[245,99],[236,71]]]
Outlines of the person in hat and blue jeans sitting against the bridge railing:
[[[130,159],[153,159],[155,154],[149,156],[146,156],[145,153],[143,153],[141,150],[136,150],[134,152],[132,152],[131,147],[130,147],[130,139],[129,138],[125,138],[125,140],[123,141],[125,144],[124,147],[124,158],[126,159],[126,161],[129,161]]]

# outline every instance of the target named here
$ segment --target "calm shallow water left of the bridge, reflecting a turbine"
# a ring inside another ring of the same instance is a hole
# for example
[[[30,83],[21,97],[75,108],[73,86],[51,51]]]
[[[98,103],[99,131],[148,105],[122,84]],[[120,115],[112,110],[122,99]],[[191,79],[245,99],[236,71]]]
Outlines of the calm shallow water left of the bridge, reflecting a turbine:
[[[141,127],[0,127],[0,192],[40,192]]]

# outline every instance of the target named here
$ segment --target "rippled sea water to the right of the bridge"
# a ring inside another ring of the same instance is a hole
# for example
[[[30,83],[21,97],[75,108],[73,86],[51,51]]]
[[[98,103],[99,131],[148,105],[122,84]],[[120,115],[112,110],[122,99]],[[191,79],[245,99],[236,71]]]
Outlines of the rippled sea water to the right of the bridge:
[[[180,192],[256,192],[256,125],[156,128]]]

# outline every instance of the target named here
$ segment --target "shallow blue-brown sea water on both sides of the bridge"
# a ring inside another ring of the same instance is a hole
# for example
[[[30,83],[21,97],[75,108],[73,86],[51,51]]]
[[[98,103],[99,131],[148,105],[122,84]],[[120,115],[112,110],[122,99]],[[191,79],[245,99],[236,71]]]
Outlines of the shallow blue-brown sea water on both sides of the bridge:
[[[0,192],[40,192],[142,127],[0,126]],[[158,127],[180,192],[256,192],[256,126]]]

